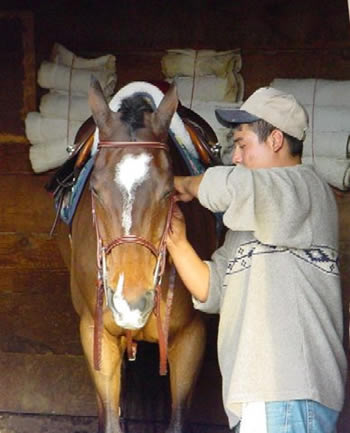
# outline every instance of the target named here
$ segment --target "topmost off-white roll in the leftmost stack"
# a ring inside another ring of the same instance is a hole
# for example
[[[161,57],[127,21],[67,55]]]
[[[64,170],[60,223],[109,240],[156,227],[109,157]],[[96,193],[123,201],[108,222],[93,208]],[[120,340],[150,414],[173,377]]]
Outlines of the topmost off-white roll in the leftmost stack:
[[[52,52],[51,60],[54,63],[60,63],[65,66],[72,66],[74,57],[74,68],[76,69],[90,69],[93,71],[106,69],[108,71],[116,72],[116,58],[112,54],[97,57],[95,59],[86,59],[78,57],[72,51],[68,50],[61,44],[55,43]]]

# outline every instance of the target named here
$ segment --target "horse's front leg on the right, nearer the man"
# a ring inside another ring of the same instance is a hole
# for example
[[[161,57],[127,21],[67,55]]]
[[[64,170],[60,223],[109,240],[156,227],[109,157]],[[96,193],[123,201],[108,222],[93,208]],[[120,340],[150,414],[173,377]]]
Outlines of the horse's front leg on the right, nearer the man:
[[[206,329],[198,314],[183,328],[169,347],[171,419],[167,433],[183,433],[193,389],[201,367]]]

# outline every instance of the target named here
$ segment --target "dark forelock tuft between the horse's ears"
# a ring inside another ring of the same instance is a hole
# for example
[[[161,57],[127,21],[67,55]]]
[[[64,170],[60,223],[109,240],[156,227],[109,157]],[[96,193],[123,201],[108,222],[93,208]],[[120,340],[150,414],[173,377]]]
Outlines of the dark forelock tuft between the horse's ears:
[[[144,113],[152,113],[153,111],[151,102],[141,94],[124,98],[118,110],[121,113],[121,120],[133,130],[143,128],[145,126]]]

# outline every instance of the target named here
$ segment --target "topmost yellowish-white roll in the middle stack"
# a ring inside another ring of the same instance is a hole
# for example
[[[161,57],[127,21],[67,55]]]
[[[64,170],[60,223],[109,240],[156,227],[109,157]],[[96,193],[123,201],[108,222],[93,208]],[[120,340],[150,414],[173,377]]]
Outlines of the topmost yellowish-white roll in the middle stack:
[[[240,50],[215,51],[173,49],[161,59],[165,77],[216,75],[226,77],[229,72],[239,72],[242,67]],[[197,57],[196,57],[197,56]]]

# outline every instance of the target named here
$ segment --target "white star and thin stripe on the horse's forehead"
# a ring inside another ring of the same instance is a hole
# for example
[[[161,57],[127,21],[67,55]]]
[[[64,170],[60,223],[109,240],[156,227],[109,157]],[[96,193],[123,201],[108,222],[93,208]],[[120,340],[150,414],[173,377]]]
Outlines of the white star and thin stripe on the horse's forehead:
[[[132,225],[132,206],[136,188],[148,177],[149,163],[152,156],[148,153],[125,155],[115,168],[115,182],[121,187],[123,194],[122,226],[125,234],[130,234]]]

